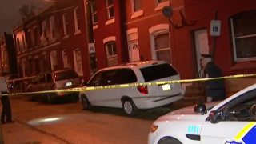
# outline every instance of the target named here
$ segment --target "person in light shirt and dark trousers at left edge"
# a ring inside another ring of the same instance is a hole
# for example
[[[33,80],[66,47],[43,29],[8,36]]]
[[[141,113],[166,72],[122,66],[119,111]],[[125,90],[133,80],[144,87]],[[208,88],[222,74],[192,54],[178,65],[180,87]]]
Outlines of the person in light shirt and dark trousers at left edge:
[[[14,122],[11,119],[11,109],[10,109],[10,100],[9,97],[2,94],[8,94],[8,83],[6,82],[6,74],[2,73],[0,78],[0,91],[1,91],[1,102],[2,102],[2,115],[1,122],[2,124]]]

